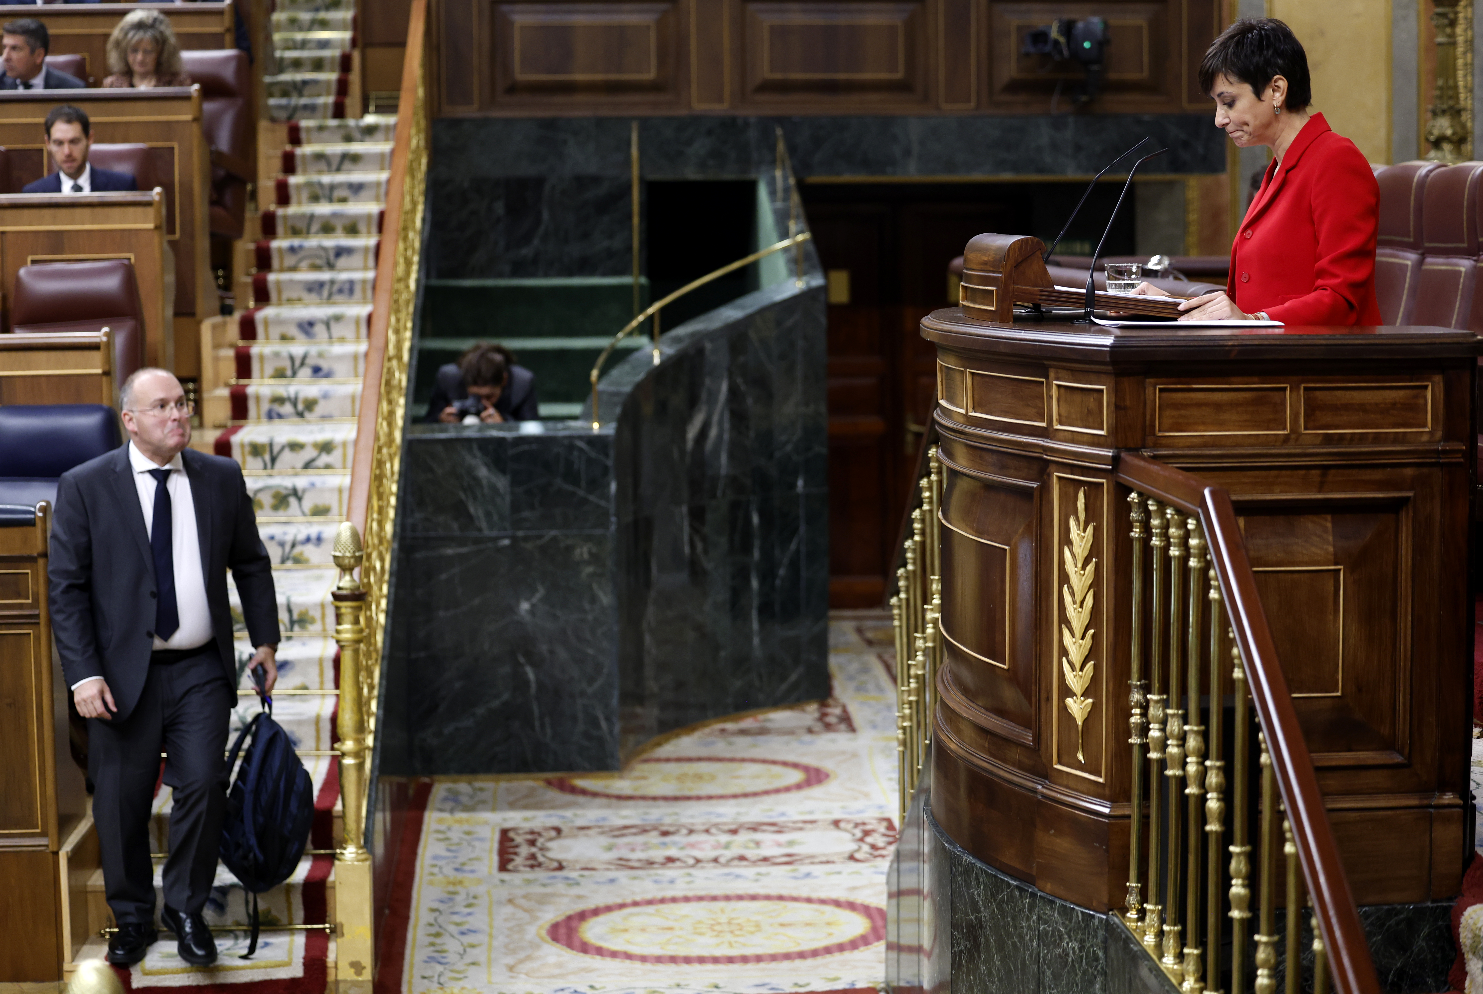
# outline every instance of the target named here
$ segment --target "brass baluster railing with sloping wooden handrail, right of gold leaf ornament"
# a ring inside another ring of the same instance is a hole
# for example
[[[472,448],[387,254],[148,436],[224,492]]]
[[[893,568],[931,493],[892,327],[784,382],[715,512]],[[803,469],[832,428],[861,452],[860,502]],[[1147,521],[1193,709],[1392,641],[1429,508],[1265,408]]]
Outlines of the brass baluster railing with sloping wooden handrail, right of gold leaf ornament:
[[[1186,994],[1221,991],[1226,981],[1244,994],[1249,941],[1258,994],[1277,990],[1278,944],[1286,947],[1281,973],[1290,994],[1327,991],[1330,978],[1342,994],[1376,994],[1369,947],[1229,495],[1132,453],[1120,456],[1117,480],[1130,489],[1132,538],[1134,816],[1124,924]],[[1145,790],[1146,838],[1139,816]],[[1283,936],[1278,904],[1287,918]],[[1298,948],[1305,907],[1314,926],[1308,984]],[[1221,961],[1226,921],[1228,970]]]

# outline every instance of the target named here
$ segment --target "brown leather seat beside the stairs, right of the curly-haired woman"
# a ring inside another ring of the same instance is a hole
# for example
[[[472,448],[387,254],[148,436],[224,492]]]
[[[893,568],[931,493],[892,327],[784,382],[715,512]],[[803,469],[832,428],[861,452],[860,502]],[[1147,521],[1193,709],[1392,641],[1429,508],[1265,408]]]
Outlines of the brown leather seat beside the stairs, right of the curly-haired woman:
[[[185,73],[200,83],[202,124],[212,150],[211,234],[240,239],[252,181],[252,74],[237,49],[181,52]]]

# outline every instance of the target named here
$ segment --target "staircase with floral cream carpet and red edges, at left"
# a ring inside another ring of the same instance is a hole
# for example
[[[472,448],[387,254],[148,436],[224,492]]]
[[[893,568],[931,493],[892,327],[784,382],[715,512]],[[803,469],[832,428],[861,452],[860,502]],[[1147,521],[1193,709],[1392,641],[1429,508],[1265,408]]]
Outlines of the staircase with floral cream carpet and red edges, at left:
[[[222,930],[217,967],[193,975],[182,975],[175,942],[163,935],[131,970],[131,988],[174,987],[188,976],[188,984],[271,982],[276,993],[317,994],[334,982],[334,939],[317,927],[335,921],[334,849],[341,841],[331,550],[347,513],[396,119],[346,117],[360,102],[349,3],[279,0],[271,47],[260,164],[273,167],[260,169],[261,209],[249,212],[236,249],[236,314],[202,326],[202,428],[193,444],[242,465],[273,557],[283,636],[273,716],[313,776],[316,818],[298,871],[260,896],[264,926],[298,927],[264,930],[252,960],[239,958],[248,933]],[[236,738],[260,702],[246,674],[252,646],[236,587],[228,591],[242,633]],[[171,790],[160,787],[151,824],[157,867],[171,801]],[[208,923],[240,927],[249,910],[251,896],[218,867]],[[86,913],[92,929],[107,923],[101,873],[89,883]],[[101,954],[93,941],[79,958]]]

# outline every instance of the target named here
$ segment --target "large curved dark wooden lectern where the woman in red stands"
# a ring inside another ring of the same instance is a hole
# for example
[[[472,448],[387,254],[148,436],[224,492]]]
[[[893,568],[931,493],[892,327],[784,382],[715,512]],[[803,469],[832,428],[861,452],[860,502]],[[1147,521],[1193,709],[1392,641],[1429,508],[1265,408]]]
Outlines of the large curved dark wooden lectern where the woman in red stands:
[[[1112,468],[1139,452],[1235,501],[1357,901],[1456,896],[1473,850],[1479,338],[1016,323],[1013,304],[1048,281],[1037,244],[974,239],[964,305],[921,323],[937,347],[945,468],[939,825],[1047,893],[1123,905],[1129,606],[1117,578],[1130,575],[1130,541]],[[1078,736],[1062,705],[1057,557],[1080,495],[1099,566],[1094,705]]]

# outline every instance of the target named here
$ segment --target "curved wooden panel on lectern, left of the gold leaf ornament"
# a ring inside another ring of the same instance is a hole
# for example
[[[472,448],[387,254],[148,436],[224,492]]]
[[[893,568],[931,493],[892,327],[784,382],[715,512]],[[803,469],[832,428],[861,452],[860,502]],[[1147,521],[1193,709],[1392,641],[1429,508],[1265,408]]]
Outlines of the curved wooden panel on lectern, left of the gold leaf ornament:
[[[1035,744],[1038,484],[949,467],[942,504],[945,658],[1000,735]],[[949,621],[951,619],[951,621]]]

